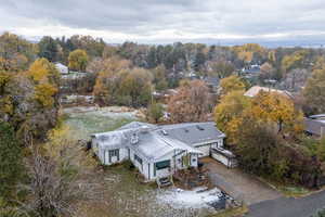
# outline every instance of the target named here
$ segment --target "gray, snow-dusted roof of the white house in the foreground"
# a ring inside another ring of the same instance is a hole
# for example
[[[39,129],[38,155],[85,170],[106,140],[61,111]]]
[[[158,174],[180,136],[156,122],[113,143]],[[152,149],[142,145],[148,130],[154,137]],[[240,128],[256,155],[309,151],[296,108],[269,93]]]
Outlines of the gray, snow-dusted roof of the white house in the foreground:
[[[138,141],[132,143],[132,136]],[[214,123],[187,123],[157,126],[133,122],[123,127],[103,133],[94,133],[102,149],[128,146],[148,161],[155,161],[173,151],[187,151],[202,154],[195,144],[209,142],[225,137]]]

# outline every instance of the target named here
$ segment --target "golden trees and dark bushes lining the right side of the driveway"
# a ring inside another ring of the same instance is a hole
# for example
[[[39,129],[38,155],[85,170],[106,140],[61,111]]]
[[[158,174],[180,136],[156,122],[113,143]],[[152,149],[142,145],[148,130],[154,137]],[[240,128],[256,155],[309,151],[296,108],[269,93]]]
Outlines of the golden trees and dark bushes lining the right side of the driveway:
[[[316,69],[303,92],[318,111],[322,102],[316,105],[313,99],[314,94],[322,98],[321,91],[325,91],[324,86],[316,85],[324,82],[320,76],[324,74]],[[214,120],[227,135],[227,145],[238,156],[240,167],[277,182],[318,187],[325,175],[325,140],[304,135],[301,104],[276,92],[245,97],[245,85],[239,82],[236,77],[221,81],[224,91],[214,108]]]

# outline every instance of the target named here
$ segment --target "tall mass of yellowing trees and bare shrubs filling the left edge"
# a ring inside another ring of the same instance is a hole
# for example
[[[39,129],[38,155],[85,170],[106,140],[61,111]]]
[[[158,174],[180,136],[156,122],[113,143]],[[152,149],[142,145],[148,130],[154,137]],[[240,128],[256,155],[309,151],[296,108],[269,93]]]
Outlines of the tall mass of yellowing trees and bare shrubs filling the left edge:
[[[61,75],[37,46],[0,36],[0,216],[73,216],[94,200],[87,156],[58,119]],[[55,129],[53,129],[55,128]]]

